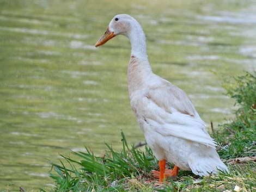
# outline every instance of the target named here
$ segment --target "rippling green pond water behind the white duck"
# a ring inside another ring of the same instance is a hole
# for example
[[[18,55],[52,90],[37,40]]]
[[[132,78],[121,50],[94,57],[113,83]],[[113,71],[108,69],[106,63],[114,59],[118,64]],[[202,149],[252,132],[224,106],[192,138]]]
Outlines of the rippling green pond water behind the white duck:
[[[229,119],[233,101],[214,74],[255,69],[255,1],[0,0],[0,191],[51,187],[47,159],[143,140],[130,109],[130,44],[94,44],[128,13],[147,34],[153,70],[184,89],[207,122]]]

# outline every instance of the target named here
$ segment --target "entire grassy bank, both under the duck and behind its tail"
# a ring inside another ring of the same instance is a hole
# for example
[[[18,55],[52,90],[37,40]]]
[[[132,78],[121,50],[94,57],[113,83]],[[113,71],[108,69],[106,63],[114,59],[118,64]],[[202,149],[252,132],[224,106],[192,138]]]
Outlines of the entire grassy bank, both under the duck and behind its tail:
[[[236,77],[235,84],[225,82],[227,94],[236,100],[235,118],[230,123],[219,125],[213,137],[223,161],[231,158],[255,156],[256,128],[256,77],[250,73]],[[231,86],[226,86],[226,85]],[[65,157],[60,164],[53,164],[50,177],[55,182],[52,191],[255,191],[255,162],[228,165],[230,173],[199,177],[190,171],[180,171],[175,180],[156,185],[152,169],[158,169],[157,160],[150,148],[128,146],[121,132],[123,150],[108,150],[101,157],[87,152],[72,152],[74,157]],[[80,160],[75,160],[75,159]],[[169,164],[172,167],[172,164]],[[235,186],[237,187],[235,188]],[[238,189],[237,189],[238,188]],[[42,191],[45,191],[42,189]]]

